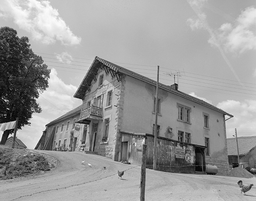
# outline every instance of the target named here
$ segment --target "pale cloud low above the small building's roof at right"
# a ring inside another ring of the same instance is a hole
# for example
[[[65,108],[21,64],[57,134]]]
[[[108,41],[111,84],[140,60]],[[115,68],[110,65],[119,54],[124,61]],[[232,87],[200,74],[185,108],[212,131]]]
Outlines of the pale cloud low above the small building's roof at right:
[[[219,102],[217,107],[234,116],[226,121],[227,137],[232,137],[235,128],[239,131],[240,137],[256,134],[256,101],[226,100]],[[231,133],[228,132],[230,130],[232,130]]]

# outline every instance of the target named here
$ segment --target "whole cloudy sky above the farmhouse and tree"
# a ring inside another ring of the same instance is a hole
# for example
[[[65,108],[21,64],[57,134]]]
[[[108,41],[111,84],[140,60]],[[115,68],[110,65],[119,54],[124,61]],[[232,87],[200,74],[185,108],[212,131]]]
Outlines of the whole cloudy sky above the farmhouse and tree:
[[[42,112],[17,131],[30,149],[82,104],[73,95],[95,56],[153,80],[159,66],[159,82],[234,115],[227,138],[256,135],[255,0],[1,0],[3,26],[51,69]]]

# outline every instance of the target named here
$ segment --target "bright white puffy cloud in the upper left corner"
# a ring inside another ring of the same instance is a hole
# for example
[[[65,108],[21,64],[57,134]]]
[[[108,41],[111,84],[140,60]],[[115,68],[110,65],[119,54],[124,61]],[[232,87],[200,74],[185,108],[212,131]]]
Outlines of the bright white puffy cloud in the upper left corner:
[[[81,41],[47,0],[2,0],[0,17],[12,18],[20,29],[45,44],[60,41],[63,45],[77,45]]]

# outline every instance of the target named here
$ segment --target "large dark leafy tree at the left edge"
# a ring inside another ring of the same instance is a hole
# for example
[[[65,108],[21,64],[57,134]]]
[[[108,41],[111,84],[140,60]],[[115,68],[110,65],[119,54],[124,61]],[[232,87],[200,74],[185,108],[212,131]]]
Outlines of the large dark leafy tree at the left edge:
[[[36,99],[48,87],[50,69],[30,49],[27,37],[19,38],[10,27],[0,28],[0,123],[15,121],[18,129],[30,125],[33,113],[40,113]],[[13,130],[4,131],[5,144]]]

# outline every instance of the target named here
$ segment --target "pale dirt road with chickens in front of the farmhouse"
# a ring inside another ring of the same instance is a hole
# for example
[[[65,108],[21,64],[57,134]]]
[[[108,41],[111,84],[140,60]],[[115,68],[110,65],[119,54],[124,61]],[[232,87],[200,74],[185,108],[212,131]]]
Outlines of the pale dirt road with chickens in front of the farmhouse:
[[[0,181],[0,201],[140,200],[140,166],[82,152],[43,152],[58,159],[58,167],[37,176]],[[81,161],[85,161],[84,164]],[[118,179],[118,170],[125,170],[122,179]],[[240,194],[237,185],[240,179],[245,184],[255,184],[247,196]],[[256,177],[245,179],[147,169],[145,200],[255,201]]]

